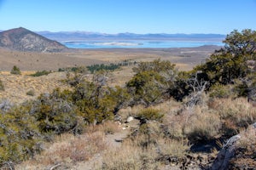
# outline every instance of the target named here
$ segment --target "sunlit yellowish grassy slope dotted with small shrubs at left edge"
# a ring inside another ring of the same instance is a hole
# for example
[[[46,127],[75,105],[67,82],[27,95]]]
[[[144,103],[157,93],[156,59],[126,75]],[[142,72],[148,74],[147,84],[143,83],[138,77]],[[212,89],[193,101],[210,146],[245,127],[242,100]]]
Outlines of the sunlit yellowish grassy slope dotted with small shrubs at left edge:
[[[27,99],[35,99],[39,94],[50,93],[55,88],[69,88],[67,84],[61,82],[66,78],[64,72],[51,73],[48,76],[29,77],[26,75],[11,75],[9,73],[0,74],[0,80],[4,85],[0,99],[9,99],[12,103],[22,103]],[[26,93],[33,89],[34,95]]]

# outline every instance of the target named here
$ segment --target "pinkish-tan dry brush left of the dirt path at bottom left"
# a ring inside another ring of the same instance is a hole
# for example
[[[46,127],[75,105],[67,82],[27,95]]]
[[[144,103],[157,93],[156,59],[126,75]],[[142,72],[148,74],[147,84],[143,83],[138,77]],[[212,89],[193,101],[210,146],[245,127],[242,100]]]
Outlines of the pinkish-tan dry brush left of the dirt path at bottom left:
[[[17,169],[43,169],[58,163],[64,165],[88,161],[106,148],[104,133],[86,133],[80,136],[66,133],[57,137],[40,155],[18,165]]]

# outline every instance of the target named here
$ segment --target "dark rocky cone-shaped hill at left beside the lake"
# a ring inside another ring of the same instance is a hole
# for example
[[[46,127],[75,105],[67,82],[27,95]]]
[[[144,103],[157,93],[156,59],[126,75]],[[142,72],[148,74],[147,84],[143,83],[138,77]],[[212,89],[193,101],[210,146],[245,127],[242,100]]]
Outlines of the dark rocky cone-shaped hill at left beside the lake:
[[[66,47],[25,28],[0,32],[0,47],[18,51],[60,52]]]

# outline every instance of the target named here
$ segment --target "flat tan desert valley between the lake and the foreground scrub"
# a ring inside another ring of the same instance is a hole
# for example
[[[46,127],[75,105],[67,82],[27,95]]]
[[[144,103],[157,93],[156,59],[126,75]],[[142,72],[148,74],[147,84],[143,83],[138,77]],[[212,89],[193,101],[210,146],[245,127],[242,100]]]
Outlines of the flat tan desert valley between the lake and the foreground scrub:
[[[73,49],[62,53],[32,53],[0,48],[0,71],[10,71],[14,65],[20,71],[57,71],[63,67],[117,63],[125,59],[150,61],[171,60],[181,70],[190,70],[204,62],[218,46],[198,48],[108,48]]]

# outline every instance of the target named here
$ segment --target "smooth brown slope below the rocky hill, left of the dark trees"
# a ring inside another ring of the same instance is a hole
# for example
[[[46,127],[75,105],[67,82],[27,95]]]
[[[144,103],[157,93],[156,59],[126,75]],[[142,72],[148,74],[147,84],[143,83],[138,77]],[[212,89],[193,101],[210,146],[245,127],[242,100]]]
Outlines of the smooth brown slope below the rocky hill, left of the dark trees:
[[[57,71],[63,67],[101,63],[105,62],[93,59],[93,57],[89,58],[87,55],[79,53],[79,51],[75,53],[32,53],[0,48],[0,71],[11,71],[14,65],[17,65],[22,72]]]

